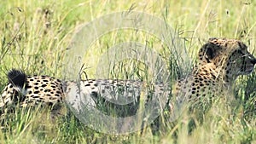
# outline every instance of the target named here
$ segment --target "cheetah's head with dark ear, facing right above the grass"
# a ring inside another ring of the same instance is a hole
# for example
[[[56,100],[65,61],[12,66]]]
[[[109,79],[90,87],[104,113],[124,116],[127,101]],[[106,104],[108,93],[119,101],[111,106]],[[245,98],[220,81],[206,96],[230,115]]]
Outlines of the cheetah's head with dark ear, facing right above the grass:
[[[199,52],[201,65],[211,64],[226,82],[232,83],[239,75],[253,72],[255,57],[241,41],[225,38],[210,38]]]

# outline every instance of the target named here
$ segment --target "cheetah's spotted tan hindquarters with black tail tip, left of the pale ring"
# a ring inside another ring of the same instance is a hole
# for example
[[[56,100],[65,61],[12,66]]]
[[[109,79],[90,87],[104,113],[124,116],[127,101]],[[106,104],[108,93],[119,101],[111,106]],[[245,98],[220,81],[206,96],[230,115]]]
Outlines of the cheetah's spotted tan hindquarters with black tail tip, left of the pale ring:
[[[62,82],[49,76],[26,76],[24,72],[11,70],[9,84],[3,89],[0,107],[28,107],[41,105],[55,109],[64,97]]]

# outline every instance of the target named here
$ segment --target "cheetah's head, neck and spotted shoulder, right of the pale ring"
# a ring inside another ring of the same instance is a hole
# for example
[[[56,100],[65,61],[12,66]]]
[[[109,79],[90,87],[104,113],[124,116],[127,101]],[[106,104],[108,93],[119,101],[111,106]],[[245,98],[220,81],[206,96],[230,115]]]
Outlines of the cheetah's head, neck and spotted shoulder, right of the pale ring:
[[[253,72],[256,59],[239,40],[212,37],[199,51],[199,62],[188,78],[179,79],[173,94],[197,99],[231,91],[240,75]]]

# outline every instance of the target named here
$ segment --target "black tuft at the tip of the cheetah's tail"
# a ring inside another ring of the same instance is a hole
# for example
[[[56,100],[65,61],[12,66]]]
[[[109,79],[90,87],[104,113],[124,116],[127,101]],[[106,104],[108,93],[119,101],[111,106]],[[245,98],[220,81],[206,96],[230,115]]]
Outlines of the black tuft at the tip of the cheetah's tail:
[[[23,88],[26,85],[26,74],[20,70],[12,69],[8,72],[9,83],[16,87]]]

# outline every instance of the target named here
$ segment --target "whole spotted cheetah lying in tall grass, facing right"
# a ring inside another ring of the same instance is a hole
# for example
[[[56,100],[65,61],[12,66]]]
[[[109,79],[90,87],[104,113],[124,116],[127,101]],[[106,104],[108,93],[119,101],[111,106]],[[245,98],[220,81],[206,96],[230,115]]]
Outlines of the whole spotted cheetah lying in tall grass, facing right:
[[[256,64],[256,59],[247,51],[247,46],[235,39],[210,38],[200,49],[198,56],[198,65],[188,78],[177,80],[173,88],[169,84],[155,84],[153,92],[145,94],[152,94],[153,97],[176,95],[178,101],[214,96],[222,90],[232,89],[236,78],[253,72]],[[108,101],[122,99],[114,95],[115,89],[121,89],[121,95],[131,97],[133,104],[137,105],[145,85],[139,81],[104,79],[76,83],[48,76],[26,76],[24,72],[17,70],[10,71],[8,76],[9,84],[3,89],[0,101],[2,109],[17,103],[21,107],[38,103],[55,106],[63,100],[78,109],[81,108],[79,101],[86,101],[89,107],[96,107],[99,95],[112,95],[110,98],[105,97]],[[82,98],[79,99],[81,94]],[[125,100],[127,102],[129,98]],[[124,101],[125,104],[127,103]]]

